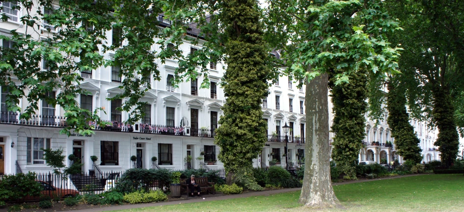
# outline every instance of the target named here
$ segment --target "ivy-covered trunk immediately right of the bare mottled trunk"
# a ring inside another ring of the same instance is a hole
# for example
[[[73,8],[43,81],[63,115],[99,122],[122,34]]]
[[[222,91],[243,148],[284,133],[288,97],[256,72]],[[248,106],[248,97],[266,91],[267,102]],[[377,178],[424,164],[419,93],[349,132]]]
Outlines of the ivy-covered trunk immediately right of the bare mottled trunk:
[[[362,148],[365,137],[364,114],[367,111],[367,76],[365,70],[350,73],[350,83],[335,85],[331,78],[331,100],[334,105],[334,122],[332,132],[335,133],[332,143],[332,159],[335,160],[343,179],[354,180],[356,177],[356,159]]]

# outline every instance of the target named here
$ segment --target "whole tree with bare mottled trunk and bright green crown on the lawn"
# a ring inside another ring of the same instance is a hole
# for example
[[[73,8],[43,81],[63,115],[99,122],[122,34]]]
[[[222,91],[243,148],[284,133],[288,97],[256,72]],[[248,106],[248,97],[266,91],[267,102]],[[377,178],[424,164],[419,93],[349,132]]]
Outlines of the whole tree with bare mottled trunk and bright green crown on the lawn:
[[[382,10],[380,0],[269,0],[268,40],[283,50],[288,69],[306,79],[307,138],[305,178],[300,203],[337,204],[330,179],[328,74],[335,85],[351,73],[397,73],[398,49],[382,32],[397,23]]]

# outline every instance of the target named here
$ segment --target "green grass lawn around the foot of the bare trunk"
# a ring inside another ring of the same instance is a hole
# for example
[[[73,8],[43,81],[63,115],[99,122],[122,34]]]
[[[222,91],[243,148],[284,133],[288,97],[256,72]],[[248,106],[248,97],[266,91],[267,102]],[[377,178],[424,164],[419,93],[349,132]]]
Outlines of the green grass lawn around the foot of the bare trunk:
[[[464,176],[420,175],[334,186],[341,206],[316,211],[464,211]],[[267,212],[314,211],[298,203],[300,192],[178,204],[130,211]],[[129,210],[126,210],[129,212]]]

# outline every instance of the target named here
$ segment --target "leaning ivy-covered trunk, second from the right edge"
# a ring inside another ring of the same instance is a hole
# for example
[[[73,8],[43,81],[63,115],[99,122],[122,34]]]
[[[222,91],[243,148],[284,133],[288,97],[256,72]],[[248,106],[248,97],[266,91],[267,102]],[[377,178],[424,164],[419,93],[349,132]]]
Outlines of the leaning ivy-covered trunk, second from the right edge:
[[[387,110],[387,123],[391,129],[391,136],[395,138],[395,149],[398,155],[406,161],[420,162],[422,160],[422,150],[418,146],[420,140],[409,123],[405,89],[399,86],[395,79],[388,82]]]

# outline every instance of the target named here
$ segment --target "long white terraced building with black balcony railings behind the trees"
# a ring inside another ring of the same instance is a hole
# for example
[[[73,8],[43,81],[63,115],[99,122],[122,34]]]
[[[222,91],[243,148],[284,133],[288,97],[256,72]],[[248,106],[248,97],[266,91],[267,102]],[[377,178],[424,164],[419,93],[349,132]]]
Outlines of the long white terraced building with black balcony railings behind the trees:
[[[11,6],[9,2],[1,2],[2,6]],[[33,11],[33,10],[32,10]],[[4,10],[10,16],[10,20],[0,22],[0,34],[11,36],[10,30],[18,29],[25,33],[26,28],[18,22],[23,16],[23,10]],[[33,14],[31,14],[33,15]],[[162,19],[161,25],[169,24]],[[194,31],[194,30],[193,30]],[[48,36],[44,32],[41,36]],[[107,32],[108,43],[112,42],[113,31]],[[36,35],[33,35],[36,36]],[[2,48],[10,48],[11,42],[0,42]],[[124,42],[123,42],[124,45]],[[155,50],[159,47],[154,46]],[[184,43],[180,46],[184,54],[188,54],[201,46],[193,46]],[[104,54],[105,59],[111,59],[114,53]],[[209,168],[222,168],[221,161],[217,161],[219,147],[214,145],[214,129],[218,127],[218,119],[222,115],[221,106],[226,99],[223,89],[219,86],[224,74],[223,64],[210,64],[209,89],[200,89],[199,78],[195,81],[180,83],[179,88],[174,88],[169,82],[177,67],[177,61],[167,60],[165,64],[158,64],[161,80],[146,79],[150,81],[150,91],[145,95],[146,116],[134,126],[133,131],[123,124],[129,114],[118,111],[115,108],[126,101],[108,101],[122,91],[118,86],[121,79],[118,77],[118,67],[100,67],[91,72],[82,72],[84,81],[81,87],[89,91],[90,95],[80,95],[77,102],[82,108],[93,110],[104,107],[106,114],[99,112],[103,120],[113,123],[112,127],[95,130],[91,136],[72,134],[67,136],[59,131],[65,125],[63,120],[64,110],[59,106],[53,106],[40,101],[39,109],[29,121],[18,119],[19,114],[7,111],[5,105],[6,90],[1,89],[0,102],[0,175],[33,171],[48,173],[52,168],[47,166],[41,148],[61,148],[66,156],[74,154],[82,159],[82,171],[92,169],[90,156],[97,156],[97,164],[102,172],[124,171],[134,167],[130,157],[136,156],[135,166],[152,168],[151,158],[157,157],[156,167],[168,169],[184,169],[187,166],[199,168],[206,164]],[[46,69],[46,67],[43,67]],[[17,83],[20,83],[19,81]],[[263,118],[268,122],[269,139],[262,148],[262,153],[254,159],[254,166],[268,166],[272,159],[285,164],[284,149],[288,147],[288,162],[294,164],[299,158],[304,157],[305,137],[305,87],[299,89],[297,83],[288,77],[280,77],[279,83],[269,88],[269,96],[263,101]],[[56,96],[60,89],[55,89],[49,95]],[[28,105],[26,98],[18,105],[23,110]],[[185,126],[180,126],[182,124]],[[186,124],[188,122],[188,124]],[[330,124],[332,121],[330,121]],[[290,127],[288,142],[284,142],[282,127],[287,124]],[[371,121],[366,124],[369,132],[366,142],[391,140],[387,124],[374,127]],[[421,126],[421,146],[436,148],[433,146],[435,134],[431,134]],[[331,133],[332,136],[332,133]],[[373,151],[374,155],[369,155]],[[203,159],[196,159],[204,153]],[[380,159],[393,157],[394,149],[382,146],[367,146],[361,150],[360,160],[367,157],[380,162]],[[297,153],[299,157],[297,157]],[[383,155],[384,154],[384,155]],[[188,164],[184,161],[187,156],[193,160]],[[424,151],[424,161],[438,159],[437,152]],[[303,162],[303,161],[301,161]]]

